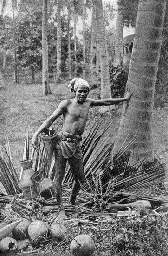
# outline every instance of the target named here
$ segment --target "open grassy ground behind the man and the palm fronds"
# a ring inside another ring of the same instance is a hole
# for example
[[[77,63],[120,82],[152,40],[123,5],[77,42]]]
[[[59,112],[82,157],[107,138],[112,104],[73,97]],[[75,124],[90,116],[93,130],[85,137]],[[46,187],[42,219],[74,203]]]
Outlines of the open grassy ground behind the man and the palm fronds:
[[[65,80],[62,84],[55,86],[51,84],[52,93],[49,96],[42,95],[41,84],[12,84],[6,83],[0,88],[0,122],[5,126],[11,145],[11,152],[14,167],[18,173],[20,170],[20,161],[23,157],[25,126],[29,129],[29,139],[31,144],[32,135],[45,119],[57,108],[59,102],[65,98],[72,98],[67,88],[69,81]],[[97,98],[98,89],[90,91],[90,97]],[[114,141],[120,122],[122,105],[118,110],[111,111],[103,122],[103,127],[112,119],[110,126],[111,141]],[[168,109],[154,109],[153,113],[153,134],[154,146],[159,156],[168,167]],[[94,121],[100,117],[99,107],[90,108],[89,118],[84,131],[83,138],[87,135]],[[61,129],[61,118],[56,121],[55,128]],[[102,128],[103,128],[102,127]],[[5,146],[4,134],[0,134],[1,154],[4,154]],[[30,150],[32,148],[30,147]]]

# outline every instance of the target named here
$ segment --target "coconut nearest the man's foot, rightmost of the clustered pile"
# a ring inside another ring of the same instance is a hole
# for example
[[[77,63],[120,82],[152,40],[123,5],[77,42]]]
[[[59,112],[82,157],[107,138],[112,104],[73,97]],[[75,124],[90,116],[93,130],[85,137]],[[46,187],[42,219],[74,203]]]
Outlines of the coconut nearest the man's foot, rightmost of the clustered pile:
[[[52,223],[49,230],[53,240],[58,243],[63,241],[68,235],[68,230],[64,224]]]

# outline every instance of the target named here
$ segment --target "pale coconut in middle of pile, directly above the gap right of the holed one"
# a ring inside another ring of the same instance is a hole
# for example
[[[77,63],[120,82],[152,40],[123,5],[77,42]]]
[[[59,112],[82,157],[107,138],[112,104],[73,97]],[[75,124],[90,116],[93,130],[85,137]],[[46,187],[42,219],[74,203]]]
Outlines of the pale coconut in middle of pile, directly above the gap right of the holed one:
[[[37,237],[45,235],[48,231],[48,225],[42,221],[33,221],[28,227],[28,234],[31,240],[35,240]]]

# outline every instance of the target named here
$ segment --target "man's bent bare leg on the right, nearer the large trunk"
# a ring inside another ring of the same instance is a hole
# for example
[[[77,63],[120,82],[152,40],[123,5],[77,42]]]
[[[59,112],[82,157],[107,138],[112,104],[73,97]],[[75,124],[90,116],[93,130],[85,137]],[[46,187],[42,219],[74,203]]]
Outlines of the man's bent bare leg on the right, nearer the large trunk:
[[[71,198],[69,204],[75,205],[75,200],[77,195],[79,194],[79,190],[81,188],[80,183],[84,183],[85,178],[84,178],[84,163],[83,159],[76,159],[74,157],[71,157],[68,160],[72,173],[75,177],[75,181],[73,183],[72,191],[71,191]],[[80,182],[80,183],[79,183]]]

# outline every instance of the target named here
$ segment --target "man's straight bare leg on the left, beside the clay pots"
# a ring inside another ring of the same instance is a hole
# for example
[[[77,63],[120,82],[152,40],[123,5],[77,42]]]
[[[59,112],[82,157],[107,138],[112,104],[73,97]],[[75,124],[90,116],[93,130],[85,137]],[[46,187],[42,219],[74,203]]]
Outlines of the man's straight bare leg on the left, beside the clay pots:
[[[62,206],[62,180],[65,175],[65,167],[67,160],[63,157],[61,149],[55,149],[55,186],[57,189],[56,199],[57,204],[60,206],[58,219],[63,220],[66,218],[64,208]]]

